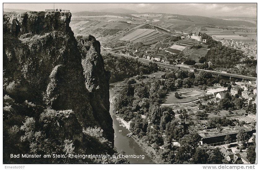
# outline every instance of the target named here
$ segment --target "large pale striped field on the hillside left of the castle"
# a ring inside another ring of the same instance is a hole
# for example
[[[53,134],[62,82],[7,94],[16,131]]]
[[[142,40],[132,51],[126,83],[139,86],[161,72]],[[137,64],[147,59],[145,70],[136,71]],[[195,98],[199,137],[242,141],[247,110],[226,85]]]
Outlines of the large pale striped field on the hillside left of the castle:
[[[144,37],[146,37],[146,39],[148,39],[149,37],[153,37],[157,34],[160,34],[160,33],[154,29],[136,29],[135,31],[130,32],[129,34],[120,38],[119,40],[134,41],[134,40],[141,39]]]

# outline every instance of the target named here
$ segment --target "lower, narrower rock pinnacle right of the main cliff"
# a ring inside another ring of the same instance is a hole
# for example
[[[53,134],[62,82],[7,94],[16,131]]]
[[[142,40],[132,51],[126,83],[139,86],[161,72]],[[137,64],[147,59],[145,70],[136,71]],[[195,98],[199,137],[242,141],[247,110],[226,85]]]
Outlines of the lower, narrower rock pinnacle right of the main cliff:
[[[106,134],[109,140],[113,140],[114,131],[107,129],[113,121],[109,114],[109,79],[110,73],[105,70],[104,60],[100,54],[100,43],[93,37],[80,38],[78,48],[81,53],[81,64],[85,75],[85,84],[89,91],[90,104],[93,108],[93,115]]]

